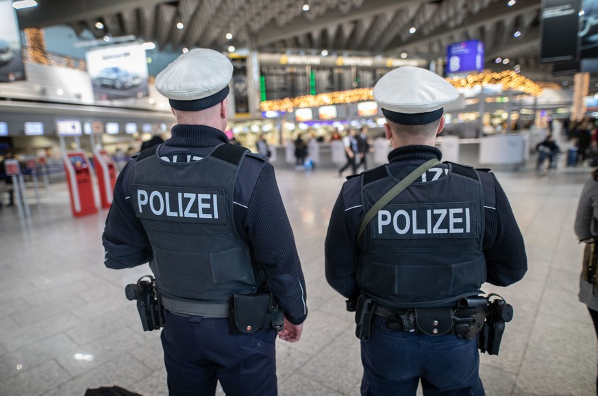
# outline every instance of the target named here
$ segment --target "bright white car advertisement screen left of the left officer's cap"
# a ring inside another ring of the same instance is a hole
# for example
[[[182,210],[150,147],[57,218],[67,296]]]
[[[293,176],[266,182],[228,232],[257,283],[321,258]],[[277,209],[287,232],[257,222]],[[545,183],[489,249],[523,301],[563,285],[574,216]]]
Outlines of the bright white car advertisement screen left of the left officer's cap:
[[[96,100],[147,96],[147,61],[141,45],[102,47],[86,53]]]

